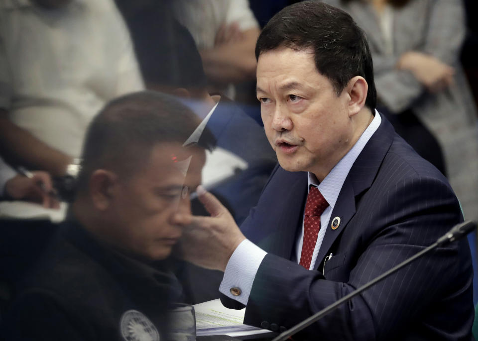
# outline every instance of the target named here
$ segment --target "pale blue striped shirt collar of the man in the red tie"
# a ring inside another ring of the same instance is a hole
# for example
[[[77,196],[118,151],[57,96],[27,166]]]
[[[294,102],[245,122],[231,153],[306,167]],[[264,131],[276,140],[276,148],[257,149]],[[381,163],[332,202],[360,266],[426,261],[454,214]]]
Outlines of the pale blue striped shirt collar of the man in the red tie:
[[[312,184],[319,188],[319,191],[324,196],[325,200],[327,200],[332,209],[335,206],[337,197],[339,196],[342,185],[344,184],[345,178],[349,174],[350,169],[359,157],[363,147],[365,147],[373,133],[378,129],[381,121],[382,119],[380,114],[377,110],[375,110],[375,117],[373,117],[373,120],[359,137],[359,140],[356,142],[354,147],[352,147],[352,149],[337,163],[337,165],[335,165],[332,171],[327,174],[322,182],[319,183],[317,177],[313,173],[308,172],[309,187]]]

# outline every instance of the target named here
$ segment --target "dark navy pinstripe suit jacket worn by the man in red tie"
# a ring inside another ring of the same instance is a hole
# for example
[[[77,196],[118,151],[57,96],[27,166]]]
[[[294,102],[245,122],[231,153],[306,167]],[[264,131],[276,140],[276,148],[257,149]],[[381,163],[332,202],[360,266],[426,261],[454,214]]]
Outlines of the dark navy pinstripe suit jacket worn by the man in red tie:
[[[352,167],[319,251],[317,271],[291,259],[307,196],[305,172],[276,168],[242,224],[269,252],[244,323],[290,328],[435,242],[462,221],[446,178],[382,117]],[[326,255],[334,256],[325,263]],[[324,274],[323,274],[323,269]],[[441,248],[310,326],[311,340],[472,340],[471,255],[466,240]],[[270,327],[269,327],[270,328]],[[283,329],[283,328],[282,328]]]

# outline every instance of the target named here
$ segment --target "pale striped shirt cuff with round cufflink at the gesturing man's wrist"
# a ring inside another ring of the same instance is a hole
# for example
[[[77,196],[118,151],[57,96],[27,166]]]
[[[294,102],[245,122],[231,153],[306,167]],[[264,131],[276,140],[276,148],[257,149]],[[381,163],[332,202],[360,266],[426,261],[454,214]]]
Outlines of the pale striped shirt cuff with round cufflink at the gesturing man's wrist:
[[[255,274],[265,255],[267,255],[267,253],[264,250],[249,240],[245,239],[242,241],[229,259],[226,271],[224,271],[223,281],[219,286],[219,291],[246,305],[249,300]],[[237,289],[239,289],[239,291]],[[239,295],[238,292],[240,292]]]

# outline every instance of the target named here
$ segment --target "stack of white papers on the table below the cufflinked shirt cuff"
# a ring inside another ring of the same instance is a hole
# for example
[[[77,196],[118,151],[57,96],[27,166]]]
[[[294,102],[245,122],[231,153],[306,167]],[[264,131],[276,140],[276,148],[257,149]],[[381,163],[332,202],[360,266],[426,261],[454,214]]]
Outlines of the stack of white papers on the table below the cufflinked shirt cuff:
[[[197,336],[226,334],[243,337],[272,333],[266,329],[244,325],[245,308],[241,310],[226,308],[220,299],[196,304],[194,310]]]

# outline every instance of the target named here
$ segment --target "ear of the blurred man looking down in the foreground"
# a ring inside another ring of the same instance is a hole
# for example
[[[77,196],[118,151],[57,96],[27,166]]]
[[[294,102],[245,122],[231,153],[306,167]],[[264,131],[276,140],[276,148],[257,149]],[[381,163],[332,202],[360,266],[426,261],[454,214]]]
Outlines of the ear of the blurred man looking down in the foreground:
[[[96,170],[90,176],[89,189],[93,205],[105,211],[111,203],[114,188],[118,184],[118,175],[112,171]]]

